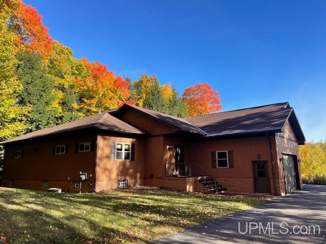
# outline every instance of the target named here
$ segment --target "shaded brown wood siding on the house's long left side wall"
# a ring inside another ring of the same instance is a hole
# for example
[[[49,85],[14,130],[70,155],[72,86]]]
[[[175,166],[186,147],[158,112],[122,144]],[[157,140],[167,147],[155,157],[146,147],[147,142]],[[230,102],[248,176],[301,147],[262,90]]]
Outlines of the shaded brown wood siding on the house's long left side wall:
[[[69,180],[79,181],[79,171],[95,173],[95,150],[75,153],[79,142],[93,141],[95,135],[83,135],[73,138],[61,138],[42,143],[6,145],[4,162],[4,179],[20,180]],[[68,154],[53,155],[57,145],[68,145]],[[19,159],[12,157],[13,151],[22,150]]]

